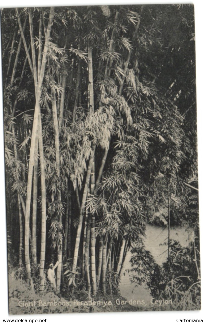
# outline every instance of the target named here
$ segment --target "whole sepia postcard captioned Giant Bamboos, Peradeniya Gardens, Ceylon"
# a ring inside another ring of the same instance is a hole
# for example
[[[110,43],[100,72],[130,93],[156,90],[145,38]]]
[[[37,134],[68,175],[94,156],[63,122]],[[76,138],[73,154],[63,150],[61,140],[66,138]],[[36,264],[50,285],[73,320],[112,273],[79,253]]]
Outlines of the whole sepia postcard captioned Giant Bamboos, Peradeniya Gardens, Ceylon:
[[[57,5],[1,8],[9,314],[202,322],[195,6]]]

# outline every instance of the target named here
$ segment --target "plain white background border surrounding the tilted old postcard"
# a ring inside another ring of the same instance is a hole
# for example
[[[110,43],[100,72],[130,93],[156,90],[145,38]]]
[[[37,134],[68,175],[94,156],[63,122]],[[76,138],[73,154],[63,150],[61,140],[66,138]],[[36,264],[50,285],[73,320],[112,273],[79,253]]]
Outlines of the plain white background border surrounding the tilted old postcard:
[[[127,312],[127,313],[91,313],[91,314],[53,314],[53,315],[22,315],[9,316],[8,315],[8,297],[7,297],[7,257],[6,257],[6,217],[5,217],[5,179],[4,179],[4,143],[3,143],[3,104],[2,104],[2,75],[0,75],[0,320],[3,318],[35,318],[47,319],[47,323],[56,323],[56,321],[66,323],[70,321],[79,322],[97,322],[102,323],[106,321],[116,322],[177,322],[180,319],[203,319],[206,320],[206,273],[205,273],[205,201],[206,201],[206,176],[205,176],[205,129],[206,129],[206,5],[204,0],[193,1],[80,1],[75,0],[69,2],[65,0],[36,0],[26,1],[7,0],[1,2],[1,7],[26,7],[26,6],[60,6],[60,5],[118,5],[118,4],[164,4],[164,3],[193,3],[195,5],[195,33],[196,33],[196,70],[197,70],[197,113],[198,113],[198,162],[199,162],[199,201],[200,201],[200,229],[201,229],[201,295],[202,295],[202,309],[201,311],[183,311],[183,312]],[[1,66],[1,62],[0,62]]]

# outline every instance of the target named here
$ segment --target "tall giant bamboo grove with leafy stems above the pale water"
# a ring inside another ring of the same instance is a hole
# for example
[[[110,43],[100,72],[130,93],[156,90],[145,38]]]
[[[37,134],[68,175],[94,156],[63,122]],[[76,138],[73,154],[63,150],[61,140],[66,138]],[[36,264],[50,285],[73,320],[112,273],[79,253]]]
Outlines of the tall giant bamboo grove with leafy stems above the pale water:
[[[152,214],[168,200],[184,214],[193,19],[191,5],[2,9],[7,230],[31,287],[58,260],[57,294],[112,294]]]

